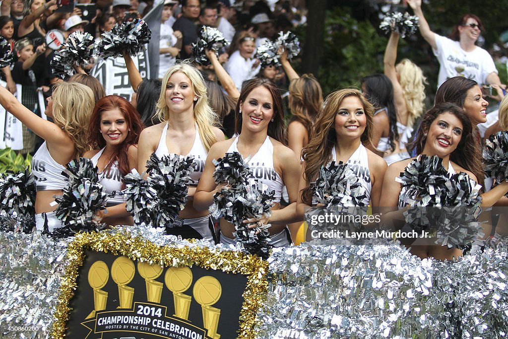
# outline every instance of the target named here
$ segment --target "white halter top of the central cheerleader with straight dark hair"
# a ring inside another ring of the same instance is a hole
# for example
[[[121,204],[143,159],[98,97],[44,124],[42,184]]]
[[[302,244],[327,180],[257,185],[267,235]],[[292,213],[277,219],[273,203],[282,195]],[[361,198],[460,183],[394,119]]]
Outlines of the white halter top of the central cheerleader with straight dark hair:
[[[228,153],[240,153],[237,143],[238,137],[229,146]],[[272,201],[275,203],[280,202],[284,183],[280,175],[275,171],[275,168],[273,168],[273,144],[269,136],[266,137],[258,152],[250,158],[249,167],[252,169],[252,174],[258,183],[261,183],[263,186],[266,185],[268,192],[275,191]]]

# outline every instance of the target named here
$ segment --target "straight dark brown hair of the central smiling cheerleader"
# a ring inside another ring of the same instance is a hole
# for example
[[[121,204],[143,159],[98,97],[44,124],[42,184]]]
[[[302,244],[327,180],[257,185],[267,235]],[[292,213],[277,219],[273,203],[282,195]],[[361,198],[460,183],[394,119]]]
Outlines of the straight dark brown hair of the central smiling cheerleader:
[[[245,102],[247,96],[254,88],[260,86],[263,86],[270,91],[270,95],[273,100],[273,121],[270,121],[270,124],[268,124],[267,134],[275,140],[284,143],[284,103],[282,102],[279,90],[275,84],[271,80],[265,78],[251,79],[244,84],[235,108],[235,133],[240,134],[242,132],[242,114],[240,113],[240,104]]]

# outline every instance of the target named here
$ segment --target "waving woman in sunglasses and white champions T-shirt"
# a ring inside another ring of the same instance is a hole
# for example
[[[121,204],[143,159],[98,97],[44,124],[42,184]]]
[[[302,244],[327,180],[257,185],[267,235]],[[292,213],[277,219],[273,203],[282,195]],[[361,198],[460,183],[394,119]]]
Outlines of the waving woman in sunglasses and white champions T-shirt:
[[[407,0],[407,3],[420,19],[420,33],[432,46],[439,61],[437,87],[455,76],[463,76],[479,84],[501,84],[489,52],[475,45],[484,28],[479,17],[474,14],[463,15],[453,29],[452,39],[448,39],[430,30],[423,15],[422,0]]]

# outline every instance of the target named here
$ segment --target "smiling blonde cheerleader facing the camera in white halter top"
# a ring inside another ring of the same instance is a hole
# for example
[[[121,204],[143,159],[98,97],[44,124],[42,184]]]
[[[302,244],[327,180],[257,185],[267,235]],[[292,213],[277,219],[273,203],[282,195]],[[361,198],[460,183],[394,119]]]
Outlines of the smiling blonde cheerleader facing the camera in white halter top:
[[[224,140],[217,128],[217,115],[208,105],[206,86],[201,73],[188,63],[173,65],[164,76],[156,109],[160,124],[143,130],[139,137],[138,172],[146,170],[146,162],[155,152],[161,158],[170,153],[192,156],[197,163],[190,175],[185,208],[180,211],[168,234],[183,238],[216,240],[210,213],[193,207],[193,196],[200,180],[210,147]]]

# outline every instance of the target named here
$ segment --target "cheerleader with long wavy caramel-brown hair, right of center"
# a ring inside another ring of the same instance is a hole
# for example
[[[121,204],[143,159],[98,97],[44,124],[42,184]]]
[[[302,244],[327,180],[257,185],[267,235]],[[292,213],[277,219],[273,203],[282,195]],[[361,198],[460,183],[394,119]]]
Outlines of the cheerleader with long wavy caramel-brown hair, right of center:
[[[367,192],[365,206],[379,206],[387,164],[366,148],[372,142],[374,108],[357,89],[346,88],[329,95],[317,115],[312,138],[303,149],[303,169],[298,196],[298,214],[312,204],[310,183],[322,166],[342,161],[351,166]]]

